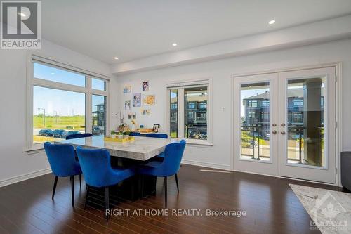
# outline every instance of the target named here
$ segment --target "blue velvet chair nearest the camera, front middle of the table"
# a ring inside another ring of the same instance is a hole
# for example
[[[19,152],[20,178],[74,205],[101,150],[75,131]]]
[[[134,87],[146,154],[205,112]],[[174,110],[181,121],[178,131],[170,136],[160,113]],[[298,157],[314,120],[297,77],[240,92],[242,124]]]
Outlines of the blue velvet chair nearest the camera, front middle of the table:
[[[78,146],[76,152],[87,184],[85,207],[88,201],[89,189],[92,186],[105,188],[105,208],[109,209],[109,186],[134,176],[135,169],[112,169],[110,153],[107,150],[88,150]],[[106,221],[108,221],[107,214]]]

